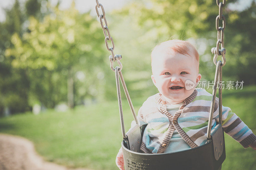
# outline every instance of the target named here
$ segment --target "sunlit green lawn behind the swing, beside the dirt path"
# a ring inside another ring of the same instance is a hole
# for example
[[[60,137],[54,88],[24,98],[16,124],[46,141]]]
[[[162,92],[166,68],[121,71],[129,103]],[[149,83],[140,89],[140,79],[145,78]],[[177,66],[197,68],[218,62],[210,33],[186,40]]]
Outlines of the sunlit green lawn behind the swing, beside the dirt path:
[[[224,90],[223,105],[235,112],[256,134],[256,86]],[[124,98],[123,98],[124,99]],[[147,96],[133,100],[135,110]],[[125,128],[132,114],[123,100]],[[0,118],[0,132],[28,138],[45,160],[68,167],[118,169],[116,153],[122,141],[117,101],[76,107],[67,112],[48,110],[39,115],[18,114]],[[256,169],[256,151],[244,149],[225,135],[227,158],[222,170]]]

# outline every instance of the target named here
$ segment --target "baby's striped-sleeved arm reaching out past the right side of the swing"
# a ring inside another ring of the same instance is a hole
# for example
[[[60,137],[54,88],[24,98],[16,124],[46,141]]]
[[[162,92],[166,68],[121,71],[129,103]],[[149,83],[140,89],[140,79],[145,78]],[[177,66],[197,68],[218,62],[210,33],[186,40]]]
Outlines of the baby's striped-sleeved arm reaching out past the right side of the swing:
[[[219,109],[217,109],[214,117],[219,122]],[[233,137],[244,148],[252,147],[256,150],[256,136],[252,130],[235,114],[231,112],[229,107],[222,106],[222,127],[224,132]]]

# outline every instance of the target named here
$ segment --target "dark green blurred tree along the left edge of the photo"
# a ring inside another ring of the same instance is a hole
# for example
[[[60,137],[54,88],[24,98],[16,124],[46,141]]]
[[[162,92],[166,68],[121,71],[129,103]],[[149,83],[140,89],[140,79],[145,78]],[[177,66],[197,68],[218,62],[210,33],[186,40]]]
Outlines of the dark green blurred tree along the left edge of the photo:
[[[11,113],[29,110],[27,72],[25,69],[12,68],[13,57],[4,57],[5,49],[12,48],[12,34],[23,33],[22,23],[25,17],[17,0],[11,9],[5,11],[6,20],[0,23],[0,115],[3,114],[4,109]]]

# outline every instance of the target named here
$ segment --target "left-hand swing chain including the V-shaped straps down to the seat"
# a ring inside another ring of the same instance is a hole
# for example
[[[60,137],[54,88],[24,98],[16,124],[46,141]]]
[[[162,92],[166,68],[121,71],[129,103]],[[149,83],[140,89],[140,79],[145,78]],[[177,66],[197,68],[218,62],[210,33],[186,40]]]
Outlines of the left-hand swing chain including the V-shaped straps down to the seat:
[[[96,13],[97,13],[98,17],[100,18],[100,25],[103,29],[103,33],[104,33],[104,36],[105,36],[105,44],[106,44],[106,47],[107,47],[108,51],[111,52],[111,55],[109,55],[110,68],[111,68],[111,70],[115,71],[115,74],[116,74],[116,90],[117,90],[117,99],[118,99],[118,106],[119,106],[119,114],[120,114],[122,135],[123,135],[124,138],[127,138],[127,136],[125,134],[125,130],[124,130],[124,117],[123,117],[123,108],[122,108],[119,77],[121,79],[121,83],[122,83],[123,88],[124,88],[125,96],[128,100],[129,106],[131,108],[133,118],[134,118],[136,124],[138,124],[139,122],[138,122],[134,107],[132,105],[132,100],[130,98],[129,92],[128,92],[127,87],[125,85],[124,77],[123,77],[123,74],[122,74],[122,71],[121,71],[122,68],[123,68],[122,63],[120,62],[120,60],[122,59],[122,55],[117,55],[117,54],[114,55],[115,44],[114,44],[113,38],[110,36],[110,32],[109,32],[109,29],[108,29],[108,23],[107,23],[107,20],[106,20],[106,17],[105,17],[106,14],[105,14],[103,5],[99,4],[98,0],[96,0],[96,4],[97,5],[95,6],[95,9],[96,9]],[[98,8],[101,8],[102,14],[99,13]],[[103,25],[103,20],[104,20],[105,25]],[[111,41],[111,44],[112,44],[112,47],[110,47],[110,48],[108,46],[108,41]],[[118,66],[116,66],[116,68],[113,67],[113,63],[115,61],[118,63],[119,67]],[[119,75],[119,77],[118,77],[118,75]]]

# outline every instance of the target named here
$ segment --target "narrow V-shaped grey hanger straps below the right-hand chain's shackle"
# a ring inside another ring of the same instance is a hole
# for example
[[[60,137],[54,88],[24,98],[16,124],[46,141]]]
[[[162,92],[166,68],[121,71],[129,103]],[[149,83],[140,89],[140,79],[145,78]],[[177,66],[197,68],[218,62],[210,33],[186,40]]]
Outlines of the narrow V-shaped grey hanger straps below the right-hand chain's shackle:
[[[217,80],[218,79],[218,80]],[[218,87],[218,82],[222,81],[222,69],[221,69],[221,61],[217,62],[215,77],[214,77],[214,86],[212,92],[212,103],[210,108],[210,115],[208,121],[208,128],[207,128],[207,139],[211,139],[211,129],[212,129],[212,117],[215,105],[215,98],[216,98],[216,90]],[[219,124],[222,124],[222,86],[219,87]]]

